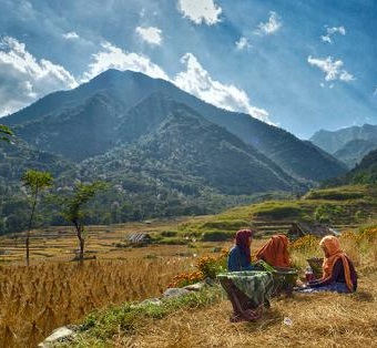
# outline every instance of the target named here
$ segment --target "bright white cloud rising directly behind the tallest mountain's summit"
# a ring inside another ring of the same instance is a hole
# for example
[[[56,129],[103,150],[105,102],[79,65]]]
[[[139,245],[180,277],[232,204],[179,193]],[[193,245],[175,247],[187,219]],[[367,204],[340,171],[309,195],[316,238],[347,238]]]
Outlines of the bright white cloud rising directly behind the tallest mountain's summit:
[[[110,42],[102,43],[102,51],[93,54],[94,61],[89,65],[89,71],[84,73],[83,81],[92,79],[111,68],[140,71],[152,78],[169,80],[166,73],[159,65],[152,63],[146,55],[124,52]]]

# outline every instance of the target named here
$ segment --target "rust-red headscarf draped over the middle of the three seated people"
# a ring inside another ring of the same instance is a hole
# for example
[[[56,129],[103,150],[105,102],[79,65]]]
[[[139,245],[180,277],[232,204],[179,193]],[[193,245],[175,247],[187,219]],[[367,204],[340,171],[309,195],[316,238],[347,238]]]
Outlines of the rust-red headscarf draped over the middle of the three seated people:
[[[257,259],[264,259],[274,267],[289,267],[288,238],[285,235],[274,235],[256,253]]]

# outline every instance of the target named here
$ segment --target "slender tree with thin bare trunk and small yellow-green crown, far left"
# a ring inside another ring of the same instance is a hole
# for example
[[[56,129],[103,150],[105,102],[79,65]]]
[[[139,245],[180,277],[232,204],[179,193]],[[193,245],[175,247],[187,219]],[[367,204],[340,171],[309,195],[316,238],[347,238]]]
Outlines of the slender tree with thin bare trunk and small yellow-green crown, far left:
[[[50,187],[52,185],[52,176],[49,172],[39,172],[34,170],[28,170],[22,176],[23,186],[27,187],[31,202],[31,211],[28,224],[28,233],[27,233],[27,264],[29,266],[29,245],[30,245],[30,232],[33,223],[33,217],[35,213],[37,203],[40,196],[40,193]]]

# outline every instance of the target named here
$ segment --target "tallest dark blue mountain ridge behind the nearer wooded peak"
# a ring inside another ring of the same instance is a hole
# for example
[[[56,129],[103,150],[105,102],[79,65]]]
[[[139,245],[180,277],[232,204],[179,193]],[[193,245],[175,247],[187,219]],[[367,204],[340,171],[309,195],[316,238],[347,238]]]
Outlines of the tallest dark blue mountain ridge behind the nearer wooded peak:
[[[74,90],[52,93],[3,117],[2,123],[38,149],[82,161],[119,145],[118,124],[124,124],[130,111],[156,92],[225,127],[296,180],[318,182],[345,172],[340,162],[282,129],[218,109],[167,81],[131,71],[108,70]]]

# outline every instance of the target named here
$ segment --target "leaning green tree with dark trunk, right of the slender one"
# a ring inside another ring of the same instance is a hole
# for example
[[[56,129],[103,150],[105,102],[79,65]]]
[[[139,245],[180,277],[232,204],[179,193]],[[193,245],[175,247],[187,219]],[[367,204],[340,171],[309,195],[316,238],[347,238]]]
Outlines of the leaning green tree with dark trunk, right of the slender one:
[[[84,206],[100,190],[103,190],[105,184],[103,182],[94,182],[91,184],[80,183],[75,186],[73,195],[71,197],[67,197],[63,202],[63,216],[67,221],[74,225],[77,231],[80,246],[80,260],[83,260],[84,258],[85,246]]]

